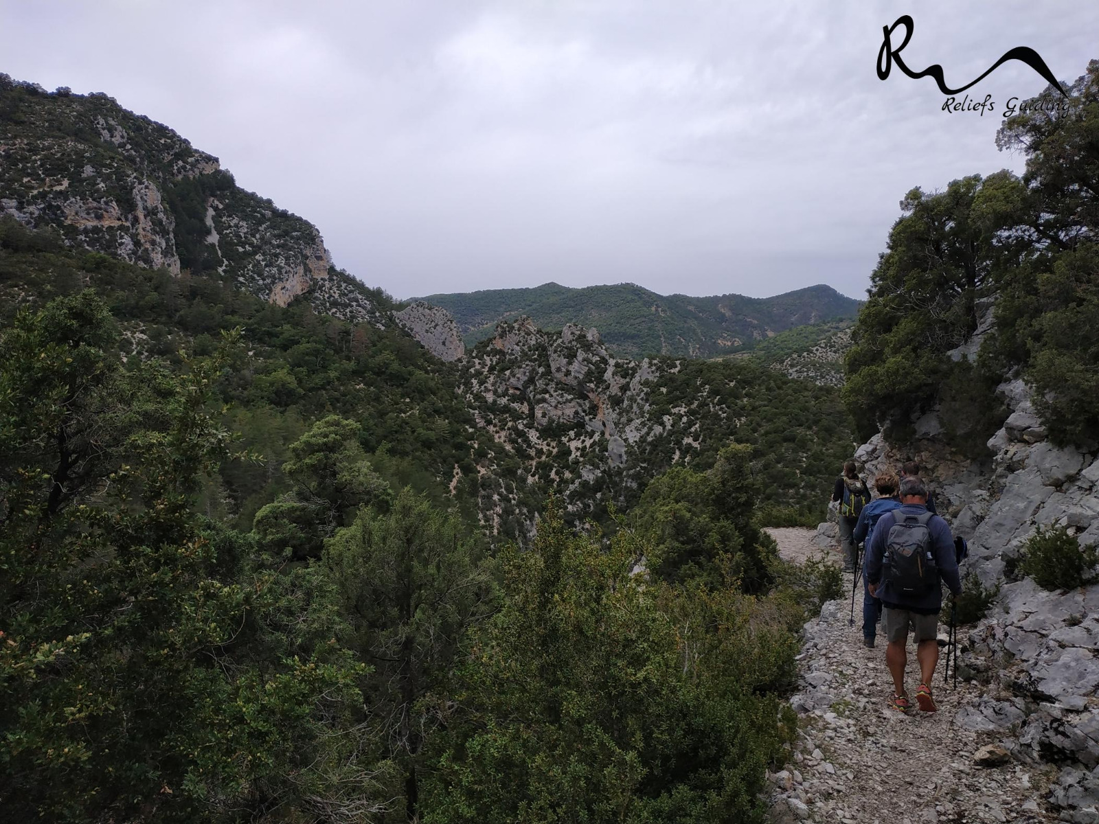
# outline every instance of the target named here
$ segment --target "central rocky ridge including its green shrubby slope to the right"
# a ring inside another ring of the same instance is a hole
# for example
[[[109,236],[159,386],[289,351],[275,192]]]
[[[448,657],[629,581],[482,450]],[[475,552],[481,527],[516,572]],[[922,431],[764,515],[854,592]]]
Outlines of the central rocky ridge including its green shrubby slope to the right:
[[[608,503],[625,509],[654,475],[712,460],[734,439],[761,446],[766,501],[819,500],[823,466],[850,448],[834,435],[804,448],[822,415],[840,416],[834,389],[746,360],[618,358],[595,329],[547,332],[520,319],[498,325],[460,364],[459,391],[490,436],[478,471],[492,532],[529,534],[548,489],[576,519]]]

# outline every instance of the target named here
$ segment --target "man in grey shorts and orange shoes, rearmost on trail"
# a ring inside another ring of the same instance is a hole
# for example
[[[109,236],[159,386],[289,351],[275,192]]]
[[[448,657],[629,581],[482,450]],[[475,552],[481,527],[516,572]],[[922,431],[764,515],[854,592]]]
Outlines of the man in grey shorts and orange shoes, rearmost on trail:
[[[928,512],[926,501],[928,487],[919,477],[901,478],[900,508],[878,519],[866,547],[867,587],[881,601],[881,628],[888,642],[886,666],[893,679],[890,704],[901,712],[912,706],[904,689],[909,630],[920,666],[915,700],[924,712],[937,709],[929,684],[939,664],[940,581],[945,581],[955,597],[962,592],[951,528]]]

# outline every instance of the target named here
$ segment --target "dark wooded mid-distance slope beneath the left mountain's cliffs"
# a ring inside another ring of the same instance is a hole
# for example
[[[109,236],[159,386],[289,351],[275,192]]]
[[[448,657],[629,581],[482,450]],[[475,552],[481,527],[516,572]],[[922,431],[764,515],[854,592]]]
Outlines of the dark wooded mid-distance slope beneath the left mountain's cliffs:
[[[178,364],[184,353],[209,355],[224,332],[243,329],[218,398],[224,424],[258,457],[222,461],[206,485],[210,515],[251,526],[260,506],[289,489],[282,465],[290,444],[325,414],[354,419],[358,445],[386,480],[435,500],[447,492],[440,479],[468,455],[471,419],[455,393],[455,371],[403,333],[317,315],[306,303],[282,309],[215,279],[77,254],[0,221],[0,323],[23,296],[37,303],[85,286],[118,319],[116,348],[129,359]]]

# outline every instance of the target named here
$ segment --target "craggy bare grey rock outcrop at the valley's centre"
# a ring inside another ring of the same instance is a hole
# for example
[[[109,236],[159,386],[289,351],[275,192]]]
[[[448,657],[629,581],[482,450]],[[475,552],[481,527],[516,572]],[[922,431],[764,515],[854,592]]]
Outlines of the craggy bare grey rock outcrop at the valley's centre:
[[[634,446],[647,445],[670,423],[647,417],[650,383],[665,368],[647,358],[614,358],[593,329],[568,324],[555,334],[529,318],[501,323],[489,345],[466,359],[462,391],[478,426],[492,435],[492,463],[513,456],[526,469],[518,483],[495,471],[482,477],[486,525],[498,532],[507,510],[529,533],[533,512],[520,511],[520,497],[540,480],[563,487],[575,514],[635,482],[631,476],[645,459]]]

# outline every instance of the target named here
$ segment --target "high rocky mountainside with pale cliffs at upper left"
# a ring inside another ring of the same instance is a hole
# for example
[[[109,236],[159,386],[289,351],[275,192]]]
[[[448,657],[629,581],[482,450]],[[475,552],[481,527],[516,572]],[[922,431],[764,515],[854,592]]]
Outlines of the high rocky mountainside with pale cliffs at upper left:
[[[141,266],[227,276],[279,305],[315,293],[321,311],[384,322],[315,226],[240,189],[167,126],[106,94],[49,93],[8,75],[0,105],[0,216]]]

